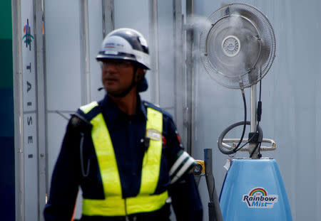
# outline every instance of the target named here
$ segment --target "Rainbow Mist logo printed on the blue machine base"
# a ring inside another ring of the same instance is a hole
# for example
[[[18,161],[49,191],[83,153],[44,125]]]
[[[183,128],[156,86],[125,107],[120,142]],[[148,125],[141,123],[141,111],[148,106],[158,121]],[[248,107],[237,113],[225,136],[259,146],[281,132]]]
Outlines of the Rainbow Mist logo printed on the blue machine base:
[[[278,195],[267,195],[267,190],[258,187],[243,195],[243,202],[250,208],[272,208],[277,203]]]

